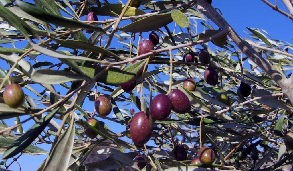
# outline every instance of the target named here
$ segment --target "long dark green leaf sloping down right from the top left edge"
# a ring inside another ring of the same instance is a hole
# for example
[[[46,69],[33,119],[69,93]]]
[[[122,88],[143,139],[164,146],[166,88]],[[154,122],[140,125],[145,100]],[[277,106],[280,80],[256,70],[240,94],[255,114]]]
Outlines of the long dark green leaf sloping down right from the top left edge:
[[[35,7],[33,5],[30,5],[20,0],[16,0],[16,2],[23,11],[45,22],[53,23],[55,25],[59,25],[63,27],[69,27],[72,29],[74,28],[92,29],[97,32],[106,34],[106,32],[101,27],[86,24],[77,20],[69,19],[69,18],[60,17],[58,15],[53,15],[52,13],[49,13],[41,8]]]

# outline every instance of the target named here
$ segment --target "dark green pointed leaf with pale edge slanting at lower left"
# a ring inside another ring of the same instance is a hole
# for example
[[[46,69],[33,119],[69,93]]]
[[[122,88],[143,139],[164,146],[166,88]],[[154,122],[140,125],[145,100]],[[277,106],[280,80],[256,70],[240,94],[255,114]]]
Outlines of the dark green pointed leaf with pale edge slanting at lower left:
[[[16,139],[11,146],[5,151],[1,159],[8,159],[16,154],[23,151],[26,147],[32,143],[36,137],[40,135],[40,133],[45,129],[50,120],[53,118],[55,113],[59,110],[54,109],[54,111],[47,114],[45,117],[41,118],[38,123],[35,123],[32,127],[30,127],[21,137]]]

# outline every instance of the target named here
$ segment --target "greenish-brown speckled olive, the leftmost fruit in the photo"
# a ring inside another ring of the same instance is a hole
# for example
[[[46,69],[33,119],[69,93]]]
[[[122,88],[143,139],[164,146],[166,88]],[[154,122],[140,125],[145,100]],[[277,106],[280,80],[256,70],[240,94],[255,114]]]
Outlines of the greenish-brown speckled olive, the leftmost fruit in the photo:
[[[12,108],[21,107],[24,102],[23,90],[16,83],[9,84],[3,92],[3,100]]]

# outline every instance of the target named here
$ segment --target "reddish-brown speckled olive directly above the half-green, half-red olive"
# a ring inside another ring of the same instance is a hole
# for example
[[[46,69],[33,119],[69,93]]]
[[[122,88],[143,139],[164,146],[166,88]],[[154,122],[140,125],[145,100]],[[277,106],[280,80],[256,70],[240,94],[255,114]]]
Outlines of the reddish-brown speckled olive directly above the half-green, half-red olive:
[[[110,100],[106,96],[98,96],[95,100],[95,109],[101,116],[107,116],[112,111]]]

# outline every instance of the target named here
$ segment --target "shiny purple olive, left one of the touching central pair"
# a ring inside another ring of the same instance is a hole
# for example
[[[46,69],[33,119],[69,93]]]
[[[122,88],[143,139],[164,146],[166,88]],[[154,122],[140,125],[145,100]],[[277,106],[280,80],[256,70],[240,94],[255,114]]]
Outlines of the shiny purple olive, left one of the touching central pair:
[[[171,113],[172,104],[169,97],[165,94],[159,94],[154,97],[150,104],[151,116],[158,121],[163,121]]]

